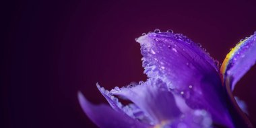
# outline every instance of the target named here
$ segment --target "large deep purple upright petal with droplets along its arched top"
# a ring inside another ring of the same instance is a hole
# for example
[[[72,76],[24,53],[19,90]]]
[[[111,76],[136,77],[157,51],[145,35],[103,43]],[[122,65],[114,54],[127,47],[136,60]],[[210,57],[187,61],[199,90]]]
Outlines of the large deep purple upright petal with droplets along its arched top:
[[[148,77],[162,79],[189,107],[205,109],[214,122],[232,127],[218,67],[198,44],[172,32],[149,33],[137,42]]]

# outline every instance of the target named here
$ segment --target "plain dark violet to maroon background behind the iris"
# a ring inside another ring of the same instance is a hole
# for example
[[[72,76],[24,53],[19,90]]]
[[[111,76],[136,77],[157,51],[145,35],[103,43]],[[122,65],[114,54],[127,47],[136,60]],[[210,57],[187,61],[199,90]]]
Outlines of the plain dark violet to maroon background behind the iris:
[[[254,1],[8,1],[1,7],[0,127],[95,127],[77,101],[146,80],[135,38],[155,28],[183,33],[220,62],[256,30]],[[256,123],[256,68],[234,93]],[[108,116],[108,115],[106,115]]]

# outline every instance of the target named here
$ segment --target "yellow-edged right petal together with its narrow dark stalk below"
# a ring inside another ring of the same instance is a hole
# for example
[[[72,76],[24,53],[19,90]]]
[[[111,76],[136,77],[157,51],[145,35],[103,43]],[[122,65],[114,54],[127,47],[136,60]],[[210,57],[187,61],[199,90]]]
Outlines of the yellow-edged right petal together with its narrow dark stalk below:
[[[232,108],[236,113],[231,113],[233,120],[236,120],[237,125],[247,125],[252,127],[249,119],[243,113],[243,110],[239,108],[234,96],[232,95],[232,90],[236,83],[247,73],[247,71],[255,64],[256,61],[256,32],[249,38],[241,40],[236,46],[226,55],[222,63],[220,71],[222,73],[222,81],[228,92],[228,98],[232,104]],[[243,108],[242,108],[243,109]],[[240,121],[240,122],[238,122]]]

